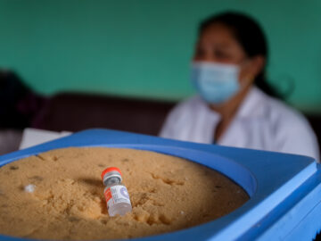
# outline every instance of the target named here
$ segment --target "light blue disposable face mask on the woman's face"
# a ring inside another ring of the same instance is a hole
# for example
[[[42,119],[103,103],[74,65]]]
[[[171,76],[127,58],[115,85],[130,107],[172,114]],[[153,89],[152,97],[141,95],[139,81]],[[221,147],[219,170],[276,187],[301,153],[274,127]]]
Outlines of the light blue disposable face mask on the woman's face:
[[[239,67],[234,64],[193,62],[192,82],[210,104],[222,104],[238,92]]]

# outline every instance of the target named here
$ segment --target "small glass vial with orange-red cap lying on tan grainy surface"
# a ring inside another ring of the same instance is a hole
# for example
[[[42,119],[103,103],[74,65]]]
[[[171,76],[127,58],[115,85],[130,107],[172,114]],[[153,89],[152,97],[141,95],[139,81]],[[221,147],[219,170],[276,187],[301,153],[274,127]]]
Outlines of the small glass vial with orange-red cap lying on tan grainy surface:
[[[123,216],[132,211],[128,189],[121,183],[121,172],[116,167],[110,167],[102,172],[103,195],[106,199],[107,210],[109,215],[117,214]]]

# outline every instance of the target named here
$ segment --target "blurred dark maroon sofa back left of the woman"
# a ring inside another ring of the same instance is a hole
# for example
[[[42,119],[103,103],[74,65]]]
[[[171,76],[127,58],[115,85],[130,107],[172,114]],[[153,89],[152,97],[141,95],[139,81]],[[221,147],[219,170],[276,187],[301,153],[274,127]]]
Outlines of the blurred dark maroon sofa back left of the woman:
[[[37,113],[31,127],[54,131],[119,129],[157,136],[174,102],[62,93]]]

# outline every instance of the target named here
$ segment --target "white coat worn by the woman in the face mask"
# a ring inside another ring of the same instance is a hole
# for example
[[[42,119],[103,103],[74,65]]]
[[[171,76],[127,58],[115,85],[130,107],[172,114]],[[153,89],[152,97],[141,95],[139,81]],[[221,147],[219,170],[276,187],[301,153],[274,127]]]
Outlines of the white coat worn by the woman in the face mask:
[[[200,96],[193,96],[169,113],[160,136],[212,144],[220,115]],[[317,137],[308,120],[279,100],[252,87],[218,145],[308,155],[319,162]]]

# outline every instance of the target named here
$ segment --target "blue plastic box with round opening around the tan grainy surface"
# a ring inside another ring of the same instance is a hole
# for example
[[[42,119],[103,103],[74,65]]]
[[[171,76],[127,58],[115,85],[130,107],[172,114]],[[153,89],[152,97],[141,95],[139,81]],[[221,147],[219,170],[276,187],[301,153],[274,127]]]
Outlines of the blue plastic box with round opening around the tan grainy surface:
[[[172,233],[131,240],[312,240],[321,228],[320,164],[307,156],[204,145],[134,133],[89,129],[0,157],[0,166],[70,146],[133,148],[201,163],[250,195],[234,212]],[[0,240],[31,240],[0,235]]]

